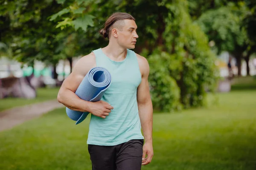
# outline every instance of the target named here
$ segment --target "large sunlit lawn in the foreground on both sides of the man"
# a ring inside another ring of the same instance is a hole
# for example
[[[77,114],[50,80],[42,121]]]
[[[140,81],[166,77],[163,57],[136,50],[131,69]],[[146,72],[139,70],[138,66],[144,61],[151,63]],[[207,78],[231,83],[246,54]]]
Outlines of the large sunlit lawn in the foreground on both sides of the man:
[[[154,157],[142,169],[255,170],[256,90],[217,96],[218,105],[154,114]],[[75,125],[57,109],[1,132],[0,169],[90,170],[88,118]]]

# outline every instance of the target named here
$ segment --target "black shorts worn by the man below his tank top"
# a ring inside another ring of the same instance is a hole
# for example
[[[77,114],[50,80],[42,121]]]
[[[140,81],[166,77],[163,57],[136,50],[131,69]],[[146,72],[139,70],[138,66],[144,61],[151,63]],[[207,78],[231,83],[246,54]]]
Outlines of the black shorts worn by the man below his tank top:
[[[134,139],[115,146],[88,144],[92,170],[140,170],[143,139]]]

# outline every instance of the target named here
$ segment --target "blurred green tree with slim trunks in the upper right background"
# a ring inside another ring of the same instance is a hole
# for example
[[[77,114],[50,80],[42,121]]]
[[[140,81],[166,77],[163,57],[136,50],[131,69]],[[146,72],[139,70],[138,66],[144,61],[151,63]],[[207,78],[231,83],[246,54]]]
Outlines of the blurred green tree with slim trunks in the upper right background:
[[[212,0],[204,4],[201,0],[189,0],[189,4],[198,7],[191,7],[190,14],[209,37],[212,50],[217,54],[228,51],[235,57],[240,76],[241,60],[248,61],[256,49],[256,3],[252,0]],[[247,74],[249,72],[247,69]]]

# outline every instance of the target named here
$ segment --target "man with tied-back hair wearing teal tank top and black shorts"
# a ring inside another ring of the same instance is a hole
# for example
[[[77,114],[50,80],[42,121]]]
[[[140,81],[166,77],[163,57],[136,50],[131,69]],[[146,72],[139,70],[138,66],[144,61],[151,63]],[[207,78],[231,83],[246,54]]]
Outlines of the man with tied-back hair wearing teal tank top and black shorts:
[[[129,50],[135,48],[136,29],[130,14],[112,14],[100,31],[108,46],[79,59],[58,93],[58,101],[68,108],[91,113],[87,144],[93,170],[140,170],[153,156],[149,65]],[[111,86],[101,101],[84,101],[76,89],[96,66],[110,72]]]

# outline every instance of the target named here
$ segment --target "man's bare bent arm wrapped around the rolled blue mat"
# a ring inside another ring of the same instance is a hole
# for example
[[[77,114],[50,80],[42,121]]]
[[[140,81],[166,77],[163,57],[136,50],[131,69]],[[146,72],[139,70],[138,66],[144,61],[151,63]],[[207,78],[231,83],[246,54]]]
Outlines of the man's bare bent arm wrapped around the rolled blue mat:
[[[76,63],[71,74],[64,80],[58,92],[58,102],[74,111],[90,112],[95,116],[105,118],[113,107],[106,102],[88,102],[80,99],[75,94],[81,81],[91,68],[96,66],[95,55],[93,53],[82,57]]]

